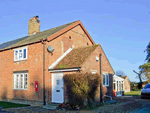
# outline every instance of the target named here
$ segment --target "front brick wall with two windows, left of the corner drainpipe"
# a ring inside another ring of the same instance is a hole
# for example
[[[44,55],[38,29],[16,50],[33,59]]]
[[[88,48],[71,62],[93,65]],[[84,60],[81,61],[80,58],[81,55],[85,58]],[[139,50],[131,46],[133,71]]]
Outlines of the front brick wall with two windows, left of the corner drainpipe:
[[[39,81],[39,87],[42,87],[42,44],[34,44],[28,46],[28,59],[24,61],[14,62],[14,51],[7,50],[0,52],[0,97],[6,98],[28,98],[30,100],[40,100],[34,91],[35,81]],[[13,72],[28,70],[28,90],[14,90],[13,89]],[[42,93],[38,93],[42,95]]]

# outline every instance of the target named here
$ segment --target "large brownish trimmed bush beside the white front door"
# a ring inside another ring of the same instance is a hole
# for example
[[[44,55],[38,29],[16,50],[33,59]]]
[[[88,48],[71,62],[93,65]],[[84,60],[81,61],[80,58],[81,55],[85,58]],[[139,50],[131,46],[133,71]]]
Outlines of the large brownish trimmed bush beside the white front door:
[[[90,73],[75,73],[64,76],[69,103],[82,106],[87,99],[88,105],[94,101],[97,86],[100,84],[100,75]]]

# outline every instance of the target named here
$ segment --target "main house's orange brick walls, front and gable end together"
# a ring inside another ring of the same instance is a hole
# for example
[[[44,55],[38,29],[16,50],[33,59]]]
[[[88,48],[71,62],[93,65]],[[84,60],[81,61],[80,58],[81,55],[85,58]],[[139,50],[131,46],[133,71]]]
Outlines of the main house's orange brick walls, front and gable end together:
[[[71,39],[69,39],[71,36]],[[51,73],[48,67],[56,61],[69,47],[92,45],[82,28],[78,25],[45,45],[45,88],[47,101],[51,101]],[[47,46],[54,48],[53,54],[47,52]],[[62,49],[63,48],[63,49]],[[28,70],[28,90],[13,89],[13,72]],[[39,83],[39,91],[34,85]],[[0,97],[8,99],[43,100],[43,45],[36,43],[28,46],[28,59],[14,62],[13,49],[0,52]],[[48,96],[49,95],[49,96]]]

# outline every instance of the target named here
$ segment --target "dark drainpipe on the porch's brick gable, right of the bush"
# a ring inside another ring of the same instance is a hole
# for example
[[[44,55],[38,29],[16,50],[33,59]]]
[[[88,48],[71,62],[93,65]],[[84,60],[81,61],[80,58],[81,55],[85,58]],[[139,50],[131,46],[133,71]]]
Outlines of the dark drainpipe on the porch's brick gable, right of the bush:
[[[103,89],[102,89],[102,54],[99,54],[99,64],[100,64],[100,76],[101,76],[101,82],[100,82],[100,102],[103,102]]]

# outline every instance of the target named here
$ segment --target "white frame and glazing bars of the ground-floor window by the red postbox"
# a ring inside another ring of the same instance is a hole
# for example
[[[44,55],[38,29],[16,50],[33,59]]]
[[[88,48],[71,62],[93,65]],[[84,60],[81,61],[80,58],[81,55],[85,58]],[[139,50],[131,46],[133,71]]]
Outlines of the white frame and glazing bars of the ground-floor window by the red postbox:
[[[13,74],[14,75],[14,89],[15,90],[28,90],[28,78],[29,78],[29,76],[28,76],[28,73],[27,72],[22,72],[22,73],[14,73]],[[19,75],[19,77],[18,77],[18,88],[16,88],[16,84],[17,84],[17,81],[16,81],[16,79],[17,79],[17,75]],[[21,85],[21,75],[23,75],[23,80],[22,80],[22,88],[21,87],[19,87],[20,85]],[[25,77],[25,75],[27,75],[27,77]],[[27,85],[26,85],[26,88],[25,88],[25,78],[27,78]]]

